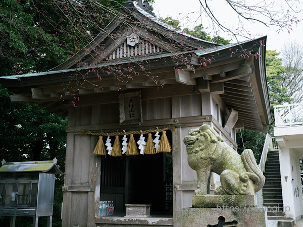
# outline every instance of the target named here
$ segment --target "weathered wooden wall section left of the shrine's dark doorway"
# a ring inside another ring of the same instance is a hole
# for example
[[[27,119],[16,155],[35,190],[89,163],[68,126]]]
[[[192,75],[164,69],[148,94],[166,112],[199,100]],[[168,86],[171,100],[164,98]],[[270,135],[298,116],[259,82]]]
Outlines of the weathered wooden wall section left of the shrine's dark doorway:
[[[96,124],[98,110],[69,110],[68,127]],[[92,154],[97,138],[67,133],[62,226],[95,226],[100,194],[100,158]]]

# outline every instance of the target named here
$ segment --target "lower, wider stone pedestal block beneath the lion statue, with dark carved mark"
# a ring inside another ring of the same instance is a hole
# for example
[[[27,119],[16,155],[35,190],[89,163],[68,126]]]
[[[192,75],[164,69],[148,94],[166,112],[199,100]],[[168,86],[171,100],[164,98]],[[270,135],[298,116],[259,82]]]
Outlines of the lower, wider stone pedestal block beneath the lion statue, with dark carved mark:
[[[218,208],[183,208],[182,227],[245,226],[266,227],[266,208],[224,206]]]

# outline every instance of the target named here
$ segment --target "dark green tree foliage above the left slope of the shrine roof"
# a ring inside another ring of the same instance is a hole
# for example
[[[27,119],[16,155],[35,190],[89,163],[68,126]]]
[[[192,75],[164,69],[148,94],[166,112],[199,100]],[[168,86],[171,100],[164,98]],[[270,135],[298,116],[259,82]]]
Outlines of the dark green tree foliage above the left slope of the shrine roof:
[[[67,58],[54,27],[41,18],[46,10],[56,17],[54,6],[47,2],[0,1],[1,76],[46,71]]]

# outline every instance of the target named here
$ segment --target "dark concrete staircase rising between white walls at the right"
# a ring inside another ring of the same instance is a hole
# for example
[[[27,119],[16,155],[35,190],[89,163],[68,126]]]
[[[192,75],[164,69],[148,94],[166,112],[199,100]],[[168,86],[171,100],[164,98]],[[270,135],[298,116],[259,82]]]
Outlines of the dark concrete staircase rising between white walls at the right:
[[[267,207],[267,216],[270,220],[285,219],[283,212],[282,186],[279,163],[279,151],[272,150],[267,154],[263,187],[263,206]],[[288,179],[291,180],[291,179]]]

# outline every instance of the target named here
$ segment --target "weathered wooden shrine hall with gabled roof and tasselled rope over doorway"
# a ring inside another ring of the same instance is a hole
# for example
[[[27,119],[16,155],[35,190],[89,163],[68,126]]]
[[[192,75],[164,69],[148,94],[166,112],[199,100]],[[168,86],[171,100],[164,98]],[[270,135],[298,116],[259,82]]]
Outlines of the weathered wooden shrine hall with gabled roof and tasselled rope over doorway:
[[[122,5],[128,23],[115,18],[58,67],[0,77],[12,102],[68,116],[63,226],[181,226],[196,187],[189,130],[208,124],[236,149],[237,129],[267,132],[273,121],[266,37],[219,45],[168,26],[146,2]],[[157,147],[164,134],[170,152]],[[106,155],[94,152],[98,141]],[[99,217],[99,201],[114,201],[114,215]],[[127,217],[125,204],[149,204],[151,216]]]

